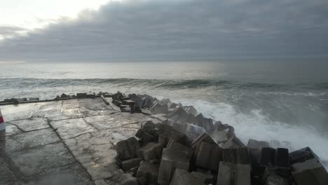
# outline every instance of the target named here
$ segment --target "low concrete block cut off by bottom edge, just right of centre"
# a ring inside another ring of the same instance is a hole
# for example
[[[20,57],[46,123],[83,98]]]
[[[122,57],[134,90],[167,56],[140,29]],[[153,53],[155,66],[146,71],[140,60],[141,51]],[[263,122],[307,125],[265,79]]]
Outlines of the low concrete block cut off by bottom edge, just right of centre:
[[[204,179],[199,175],[187,172],[186,170],[175,170],[170,185],[201,185],[204,184]]]

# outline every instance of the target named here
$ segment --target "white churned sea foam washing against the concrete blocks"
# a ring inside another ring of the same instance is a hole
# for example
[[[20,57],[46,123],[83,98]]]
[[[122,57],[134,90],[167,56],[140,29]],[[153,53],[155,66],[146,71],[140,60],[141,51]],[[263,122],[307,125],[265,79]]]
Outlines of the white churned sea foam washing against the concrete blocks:
[[[242,114],[233,106],[224,103],[199,100],[182,100],[182,103],[193,105],[207,117],[214,117],[215,120],[232,125],[244,144],[247,144],[248,139],[276,139],[280,142],[291,142],[292,151],[310,146],[328,169],[328,137],[320,135],[314,128],[271,121],[260,109],[254,109],[250,114]]]

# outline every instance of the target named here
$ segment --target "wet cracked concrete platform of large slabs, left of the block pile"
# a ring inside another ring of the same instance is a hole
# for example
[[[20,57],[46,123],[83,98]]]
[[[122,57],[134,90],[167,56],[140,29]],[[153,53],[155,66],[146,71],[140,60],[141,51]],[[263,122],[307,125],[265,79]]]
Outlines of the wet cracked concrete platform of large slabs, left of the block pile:
[[[101,98],[0,109],[6,121],[6,152],[0,152],[5,185],[120,184],[115,144],[152,119],[121,113]]]

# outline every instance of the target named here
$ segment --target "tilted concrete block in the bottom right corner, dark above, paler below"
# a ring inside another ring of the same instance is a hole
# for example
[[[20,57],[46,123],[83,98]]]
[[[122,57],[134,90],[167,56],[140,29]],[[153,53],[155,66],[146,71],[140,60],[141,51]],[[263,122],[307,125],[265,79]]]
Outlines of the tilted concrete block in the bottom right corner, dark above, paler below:
[[[328,183],[328,173],[315,153],[306,147],[289,153],[292,175],[297,185],[323,185]]]

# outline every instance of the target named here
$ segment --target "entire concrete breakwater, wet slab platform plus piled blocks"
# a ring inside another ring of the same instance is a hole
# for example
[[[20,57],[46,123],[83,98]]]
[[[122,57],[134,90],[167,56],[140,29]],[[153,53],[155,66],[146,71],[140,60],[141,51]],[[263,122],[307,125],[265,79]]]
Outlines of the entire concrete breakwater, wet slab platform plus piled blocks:
[[[327,183],[310,148],[289,152],[288,142],[253,139],[245,146],[233,127],[191,106],[122,93],[62,94],[47,101],[0,107],[10,131],[1,154],[4,171],[13,174],[1,184],[62,180],[54,170],[69,174],[64,180],[73,184]],[[56,152],[63,158],[50,155]]]

